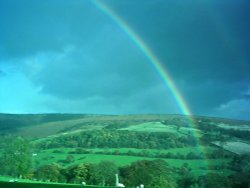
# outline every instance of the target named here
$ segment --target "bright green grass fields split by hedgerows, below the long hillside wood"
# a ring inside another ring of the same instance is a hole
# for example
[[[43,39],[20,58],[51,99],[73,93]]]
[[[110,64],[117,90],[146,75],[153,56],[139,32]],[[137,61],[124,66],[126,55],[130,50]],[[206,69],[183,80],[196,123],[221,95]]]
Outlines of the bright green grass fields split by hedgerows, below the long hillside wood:
[[[207,152],[213,151],[215,148],[213,147],[205,147],[205,150]],[[73,149],[70,148],[65,148],[62,151],[64,153],[53,153],[53,150],[55,149],[50,149],[50,150],[44,150],[41,153],[38,153],[37,156],[35,156],[35,161],[38,161],[40,163],[37,163],[38,166],[46,165],[46,164],[51,164],[58,162],[60,160],[65,160],[66,157],[69,155],[69,151],[74,151]],[[122,149],[116,149],[116,148],[111,148],[111,149],[87,149],[89,151],[93,152],[101,152],[101,151],[115,151],[119,150],[121,153],[122,152],[127,152],[129,150],[134,151],[134,152],[141,152],[142,150],[140,149],[133,149],[133,148],[122,148]],[[175,149],[170,149],[170,150],[145,150],[147,152],[152,152],[152,153],[180,153],[180,154],[186,154],[190,151],[192,152],[200,152],[197,151],[197,147],[189,147],[189,148],[175,148]],[[118,166],[126,166],[130,165],[131,163],[138,161],[138,160],[155,160],[159,158],[153,158],[153,157],[139,157],[139,156],[127,156],[127,155],[105,155],[105,154],[71,154],[74,156],[74,161],[72,163],[59,163],[64,167],[74,165],[74,164],[80,164],[80,163],[99,163],[103,160],[109,160],[109,161],[114,161],[116,165]],[[222,164],[227,164],[230,162],[230,159],[195,159],[195,160],[186,160],[186,159],[163,159],[165,160],[170,166],[180,168],[184,163],[187,163],[192,172],[195,175],[203,175],[206,174],[209,170],[214,170],[216,166],[221,166]],[[225,170],[224,170],[225,171]]]

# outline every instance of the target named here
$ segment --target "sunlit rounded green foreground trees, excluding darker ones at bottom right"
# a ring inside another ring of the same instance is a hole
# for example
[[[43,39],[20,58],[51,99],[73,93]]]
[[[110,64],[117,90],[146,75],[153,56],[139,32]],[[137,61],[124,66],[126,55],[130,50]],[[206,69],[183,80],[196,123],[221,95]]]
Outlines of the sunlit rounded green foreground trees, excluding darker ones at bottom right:
[[[38,168],[34,178],[42,181],[81,183],[88,185],[114,186],[115,174],[126,187],[145,185],[146,187],[174,188],[176,182],[171,177],[172,169],[163,160],[137,161],[118,168],[112,161],[98,164],[78,164],[63,168],[58,164]]]

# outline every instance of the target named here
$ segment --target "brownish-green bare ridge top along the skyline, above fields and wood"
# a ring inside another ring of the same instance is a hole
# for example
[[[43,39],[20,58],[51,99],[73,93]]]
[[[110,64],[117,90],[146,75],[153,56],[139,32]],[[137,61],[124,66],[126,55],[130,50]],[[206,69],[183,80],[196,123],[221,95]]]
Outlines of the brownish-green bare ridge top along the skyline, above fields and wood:
[[[21,136],[49,136],[65,131],[85,129],[86,127],[106,126],[115,122],[130,122],[131,124],[148,121],[165,121],[175,119],[185,122],[185,115],[180,114],[4,114],[0,113],[0,134],[14,133]],[[250,125],[250,121],[219,117],[192,116],[194,121],[223,123],[229,125]]]

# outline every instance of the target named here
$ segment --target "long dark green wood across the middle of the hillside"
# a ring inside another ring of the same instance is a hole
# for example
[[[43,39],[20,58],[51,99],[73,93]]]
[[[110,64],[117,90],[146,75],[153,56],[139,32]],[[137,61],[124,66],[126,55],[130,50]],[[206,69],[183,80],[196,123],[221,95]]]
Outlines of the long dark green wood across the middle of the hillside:
[[[192,136],[176,137],[175,134],[166,132],[96,130],[55,137],[39,143],[38,147],[169,149],[190,145],[195,145]]]

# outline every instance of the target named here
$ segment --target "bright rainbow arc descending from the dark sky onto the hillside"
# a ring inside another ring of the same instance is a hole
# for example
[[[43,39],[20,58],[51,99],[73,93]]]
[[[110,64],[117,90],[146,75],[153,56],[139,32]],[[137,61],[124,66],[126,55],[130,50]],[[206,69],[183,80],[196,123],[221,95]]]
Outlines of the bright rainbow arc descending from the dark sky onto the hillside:
[[[144,42],[144,40],[110,7],[108,7],[106,4],[102,3],[99,0],[94,0],[93,3],[99,10],[101,10],[103,13],[108,15],[121,28],[121,30],[124,31],[128,35],[131,41],[143,52],[143,54],[147,57],[151,65],[159,73],[160,78],[162,79],[163,83],[171,91],[171,94],[174,97],[179,110],[181,111],[183,115],[187,117],[189,126],[191,126],[192,128],[195,128],[196,125],[192,118],[192,113],[190,109],[188,108],[187,103],[185,102],[180,91],[177,89],[170,74],[163,67],[162,63],[154,54],[154,52],[149,48],[149,46]],[[202,151],[203,149],[199,144],[200,133],[198,133],[198,131],[194,131],[193,136],[197,142],[199,149]],[[205,153],[205,152],[202,151],[202,153]]]

